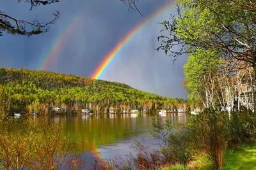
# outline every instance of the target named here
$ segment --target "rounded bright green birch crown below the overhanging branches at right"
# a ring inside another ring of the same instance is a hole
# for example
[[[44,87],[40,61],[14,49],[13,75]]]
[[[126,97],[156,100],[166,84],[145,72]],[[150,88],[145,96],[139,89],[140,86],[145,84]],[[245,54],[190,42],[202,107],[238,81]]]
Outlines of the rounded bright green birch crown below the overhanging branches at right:
[[[209,92],[214,85],[212,81],[218,73],[219,65],[220,59],[216,51],[198,48],[191,53],[188,62],[184,65],[186,87],[191,101],[209,106],[209,103],[205,101],[207,97],[205,93]]]

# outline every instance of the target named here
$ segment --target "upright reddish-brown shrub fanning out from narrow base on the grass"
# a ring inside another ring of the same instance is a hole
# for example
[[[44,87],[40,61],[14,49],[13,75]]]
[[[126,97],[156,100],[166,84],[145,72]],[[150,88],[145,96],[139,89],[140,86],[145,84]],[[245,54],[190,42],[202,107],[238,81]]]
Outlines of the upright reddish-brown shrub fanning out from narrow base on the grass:
[[[189,123],[195,140],[202,145],[216,168],[223,166],[224,153],[230,140],[228,123],[228,113],[213,108],[206,108]]]

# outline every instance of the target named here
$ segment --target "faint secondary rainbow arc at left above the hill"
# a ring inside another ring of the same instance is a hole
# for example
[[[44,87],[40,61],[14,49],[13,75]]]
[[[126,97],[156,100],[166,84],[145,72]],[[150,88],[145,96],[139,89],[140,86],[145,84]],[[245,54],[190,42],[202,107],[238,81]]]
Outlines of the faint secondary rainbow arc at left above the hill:
[[[58,56],[61,52],[61,47],[68,41],[68,38],[74,33],[77,25],[79,24],[80,18],[83,16],[83,12],[76,15],[65,27],[65,29],[57,36],[54,43],[52,44],[47,55],[43,57],[43,60],[39,66],[39,69],[46,71],[51,64],[51,60]]]

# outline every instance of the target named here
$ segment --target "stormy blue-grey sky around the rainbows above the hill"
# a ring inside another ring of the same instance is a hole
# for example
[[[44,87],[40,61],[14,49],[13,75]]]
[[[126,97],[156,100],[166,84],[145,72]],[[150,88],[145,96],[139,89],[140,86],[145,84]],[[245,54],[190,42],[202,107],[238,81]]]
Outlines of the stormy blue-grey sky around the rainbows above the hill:
[[[51,25],[50,31],[31,37],[4,34],[0,37],[0,67],[42,69],[41,65],[56,40],[61,39],[58,53],[52,57],[45,71],[76,74],[90,77],[100,62],[136,25],[145,20],[164,4],[172,0],[140,0],[137,6],[144,18],[119,0],[60,0],[47,6],[38,6],[29,11],[29,3],[2,0],[0,10],[22,20],[49,21],[52,13],[60,11],[60,18]],[[136,89],[166,97],[188,98],[182,87],[183,66],[187,56],[173,58],[163,51],[157,52],[157,36],[163,25],[175,13],[175,5],[158,17],[150,20],[120,50],[106,67],[99,79],[126,83]],[[79,17],[76,25],[70,25]],[[61,32],[72,27],[63,38]]]

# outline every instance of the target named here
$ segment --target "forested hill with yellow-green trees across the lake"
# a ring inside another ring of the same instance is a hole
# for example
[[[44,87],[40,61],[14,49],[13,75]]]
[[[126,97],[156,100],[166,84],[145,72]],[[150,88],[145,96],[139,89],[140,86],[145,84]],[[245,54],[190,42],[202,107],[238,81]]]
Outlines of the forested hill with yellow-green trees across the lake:
[[[186,103],[183,99],[157,96],[124,83],[28,69],[0,68],[0,84],[4,92],[0,94],[6,94],[7,98],[2,98],[10,103],[10,112],[50,114],[56,106],[76,113],[83,108],[97,113],[107,113],[109,108],[115,112],[131,108],[154,111],[178,108]]]

